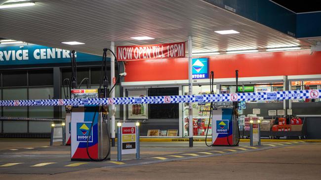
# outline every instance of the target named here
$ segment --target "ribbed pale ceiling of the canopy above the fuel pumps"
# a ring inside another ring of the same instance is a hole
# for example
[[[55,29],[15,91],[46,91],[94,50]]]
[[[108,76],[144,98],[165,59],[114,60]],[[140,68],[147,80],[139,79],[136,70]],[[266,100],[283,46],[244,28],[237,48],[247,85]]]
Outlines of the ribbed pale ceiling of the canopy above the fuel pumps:
[[[0,9],[1,38],[95,55],[111,41],[116,46],[157,44],[186,41],[189,35],[193,51],[309,45],[202,0],[37,0],[35,6]],[[61,44],[66,41],[85,44]]]

